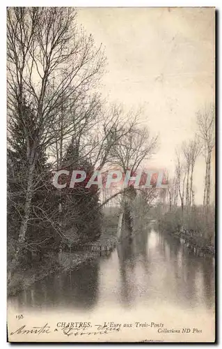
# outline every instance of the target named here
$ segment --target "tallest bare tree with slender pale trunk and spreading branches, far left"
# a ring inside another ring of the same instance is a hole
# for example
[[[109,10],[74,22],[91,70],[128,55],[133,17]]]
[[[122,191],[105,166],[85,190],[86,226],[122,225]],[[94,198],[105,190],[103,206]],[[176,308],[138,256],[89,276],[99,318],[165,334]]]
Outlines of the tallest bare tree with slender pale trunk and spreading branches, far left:
[[[86,96],[104,66],[101,47],[95,50],[92,36],[77,29],[76,17],[72,8],[7,11],[8,113],[16,110],[22,122],[29,172],[19,242],[26,237],[38,152],[72,131],[72,118],[61,126],[58,115],[63,114],[64,105],[71,110]],[[25,101],[35,109],[34,128],[26,120]],[[9,115],[9,133],[11,120]]]

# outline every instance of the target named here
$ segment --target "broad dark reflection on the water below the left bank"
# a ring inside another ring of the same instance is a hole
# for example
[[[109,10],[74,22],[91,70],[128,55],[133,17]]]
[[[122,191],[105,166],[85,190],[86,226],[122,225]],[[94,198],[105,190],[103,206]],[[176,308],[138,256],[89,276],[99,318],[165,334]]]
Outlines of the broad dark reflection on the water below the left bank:
[[[92,309],[97,303],[99,260],[83,263],[78,269],[41,280],[17,295],[29,307],[72,307]]]

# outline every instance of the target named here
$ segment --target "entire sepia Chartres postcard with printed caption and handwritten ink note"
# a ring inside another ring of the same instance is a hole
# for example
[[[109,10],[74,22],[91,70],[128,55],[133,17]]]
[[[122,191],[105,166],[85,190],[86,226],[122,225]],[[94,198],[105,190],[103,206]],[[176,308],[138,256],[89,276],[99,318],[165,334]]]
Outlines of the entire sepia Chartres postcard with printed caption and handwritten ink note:
[[[7,8],[8,341],[215,341],[215,8]]]

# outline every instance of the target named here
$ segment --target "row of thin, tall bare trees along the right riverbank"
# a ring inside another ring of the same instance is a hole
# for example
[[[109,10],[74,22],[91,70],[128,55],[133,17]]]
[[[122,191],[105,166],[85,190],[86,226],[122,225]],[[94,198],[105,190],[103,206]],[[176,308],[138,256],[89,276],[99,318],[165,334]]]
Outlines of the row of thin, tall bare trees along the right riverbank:
[[[168,230],[171,232],[184,227],[203,244],[214,244],[214,197],[212,197],[212,153],[215,147],[215,107],[205,106],[196,114],[197,132],[193,139],[182,142],[175,151],[175,176],[168,179],[164,190],[168,212]],[[193,176],[198,157],[205,159],[203,180],[203,205],[196,205]],[[164,224],[164,222],[162,222]],[[164,225],[166,228],[166,225]]]

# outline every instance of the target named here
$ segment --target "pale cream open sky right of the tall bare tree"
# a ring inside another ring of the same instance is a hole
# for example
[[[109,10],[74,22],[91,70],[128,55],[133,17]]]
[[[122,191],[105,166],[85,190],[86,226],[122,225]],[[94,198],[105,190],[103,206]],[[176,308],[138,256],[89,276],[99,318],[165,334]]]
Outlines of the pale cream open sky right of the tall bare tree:
[[[214,101],[214,8],[81,8],[78,22],[108,61],[102,96],[159,133],[150,166],[173,172],[175,147],[193,138],[196,112]],[[205,163],[196,163],[196,203],[203,202]]]

